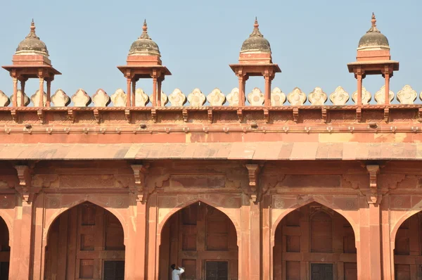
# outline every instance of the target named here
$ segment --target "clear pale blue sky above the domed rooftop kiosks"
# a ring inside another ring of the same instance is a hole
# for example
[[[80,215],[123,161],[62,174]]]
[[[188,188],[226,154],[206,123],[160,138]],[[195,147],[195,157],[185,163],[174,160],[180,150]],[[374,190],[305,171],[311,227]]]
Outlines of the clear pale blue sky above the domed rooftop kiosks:
[[[422,91],[422,1],[97,1],[22,0],[3,1],[0,17],[0,63],[10,65],[19,42],[30,31],[34,18],[37,35],[49,49],[53,67],[63,73],[56,77],[52,91],[63,89],[68,96],[82,88],[89,95],[99,88],[109,95],[126,87],[117,65],[124,65],[129,47],[142,32],[157,42],[163,65],[172,72],[163,91],[175,88],[185,95],[198,87],[205,95],[218,87],[224,94],[238,86],[229,68],[237,63],[241,44],[257,16],[260,31],[271,43],[274,63],[283,72],[273,87],[288,94],[300,87],[308,94],[321,87],[331,94],[342,86],[349,94],[356,80],[346,64],[355,60],[359,38],[371,26],[376,13],[378,29],[385,34],[399,72],[391,80],[392,91],[410,84]],[[6,11],[6,12],[5,12]],[[140,81],[151,94],[150,80]],[[380,76],[364,79],[374,94],[383,85]],[[27,83],[27,95],[38,87]],[[264,79],[252,77],[247,91],[264,89]],[[0,71],[0,89],[9,96],[13,84],[6,70]]]

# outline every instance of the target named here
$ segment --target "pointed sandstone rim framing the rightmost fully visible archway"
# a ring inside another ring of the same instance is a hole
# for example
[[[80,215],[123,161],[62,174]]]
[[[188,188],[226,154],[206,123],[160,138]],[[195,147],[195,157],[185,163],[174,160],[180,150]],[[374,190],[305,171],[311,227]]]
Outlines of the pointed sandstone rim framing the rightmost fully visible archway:
[[[296,203],[295,205],[290,206],[289,208],[286,208],[280,215],[277,217],[276,221],[271,226],[271,247],[274,247],[274,236],[276,234],[276,228],[279,226],[281,220],[283,217],[286,217],[290,212],[293,212],[294,210],[301,208],[302,206],[308,205],[309,203],[316,202],[321,205],[324,205],[326,208],[330,208],[331,210],[338,212],[338,214],[342,215],[347,219],[347,222],[350,223],[352,226],[352,229],[354,231],[354,236],[356,238],[356,241],[359,241],[359,224],[357,224],[350,215],[347,214],[347,211],[341,209],[338,207],[338,205],[335,205],[334,203],[331,203],[329,201],[326,201],[324,198],[321,198],[319,196],[309,196],[306,201],[303,201],[302,203]]]

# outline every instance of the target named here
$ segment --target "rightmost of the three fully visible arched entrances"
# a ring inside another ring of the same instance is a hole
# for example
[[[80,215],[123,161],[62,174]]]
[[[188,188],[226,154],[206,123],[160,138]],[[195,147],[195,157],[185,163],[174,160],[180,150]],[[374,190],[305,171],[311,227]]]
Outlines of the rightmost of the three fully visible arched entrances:
[[[352,226],[316,202],[283,217],[276,227],[273,256],[274,279],[357,279]]]

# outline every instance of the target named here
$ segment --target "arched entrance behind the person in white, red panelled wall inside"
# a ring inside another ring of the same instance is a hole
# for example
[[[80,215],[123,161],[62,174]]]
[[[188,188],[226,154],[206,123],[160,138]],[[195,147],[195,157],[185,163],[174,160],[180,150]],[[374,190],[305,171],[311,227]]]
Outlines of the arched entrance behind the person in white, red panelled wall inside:
[[[182,279],[238,279],[234,224],[217,208],[196,202],[175,212],[161,231],[159,279],[170,265],[185,268]]]

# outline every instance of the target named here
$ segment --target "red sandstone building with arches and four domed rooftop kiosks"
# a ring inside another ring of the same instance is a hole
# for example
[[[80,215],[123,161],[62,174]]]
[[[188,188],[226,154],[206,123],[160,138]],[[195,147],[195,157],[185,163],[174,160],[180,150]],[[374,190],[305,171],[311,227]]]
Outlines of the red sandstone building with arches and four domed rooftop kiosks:
[[[255,22],[238,89],[167,96],[145,24],[118,67],[126,91],[52,94],[32,23],[0,91],[0,279],[169,279],[172,263],[182,279],[421,279],[418,94],[390,91],[399,63],[375,17],[347,66],[354,105],[341,87],[271,89],[281,70]],[[370,94],[366,75],[385,86]],[[250,76],[264,93],[245,93]]]

